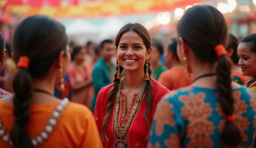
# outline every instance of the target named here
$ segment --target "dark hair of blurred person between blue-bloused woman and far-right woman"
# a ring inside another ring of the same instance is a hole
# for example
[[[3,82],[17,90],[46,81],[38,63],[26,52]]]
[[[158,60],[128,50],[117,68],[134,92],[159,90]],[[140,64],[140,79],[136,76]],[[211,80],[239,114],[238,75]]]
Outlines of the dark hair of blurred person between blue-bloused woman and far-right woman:
[[[231,59],[235,64],[238,64],[238,61],[239,61],[239,58],[237,56],[237,47],[238,47],[237,38],[235,38],[234,35],[229,34],[229,40],[227,42],[226,50],[229,51],[230,49],[233,49],[233,54],[231,56]]]

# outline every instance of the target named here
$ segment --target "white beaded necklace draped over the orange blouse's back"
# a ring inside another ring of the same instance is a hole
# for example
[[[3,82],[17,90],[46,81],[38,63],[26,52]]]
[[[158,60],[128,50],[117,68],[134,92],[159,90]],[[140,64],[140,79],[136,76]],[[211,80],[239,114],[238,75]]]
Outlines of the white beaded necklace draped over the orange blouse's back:
[[[31,142],[33,146],[38,146],[38,144],[42,144],[43,140],[48,139],[48,135],[53,132],[54,127],[56,126],[59,117],[62,115],[64,109],[67,107],[69,103],[69,99],[64,98],[59,102],[59,104],[54,109],[53,113],[50,116],[48,123],[41,133],[37,135],[37,137],[32,138]],[[0,138],[3,139],[4,142],[8,142],[11,146],[13,146],[13,142],[9,138],[9,134],[6,133],[6,128],[2,126],[2,121],[0,120]]]

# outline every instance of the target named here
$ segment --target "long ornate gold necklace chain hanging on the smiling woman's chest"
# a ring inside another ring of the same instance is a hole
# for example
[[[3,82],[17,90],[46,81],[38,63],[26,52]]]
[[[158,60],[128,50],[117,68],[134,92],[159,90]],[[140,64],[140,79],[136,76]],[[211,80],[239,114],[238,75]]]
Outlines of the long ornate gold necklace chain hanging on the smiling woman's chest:
[[[120,134],[119,128],[118,128],[118,112],[119,112],[119,104],[120,104],[119,99],[120,99],[122,83],[123,83],[123,79],[120,81],[120,83],[118,85],[118,90],[117,90],[117,95],[116,95],[116,105],[115,105],[115,110],[114,110],[114,129],[115,129],[115,132],[117,133],[118,138],[120,138],[120,139],[125,137],[125,134],[126,134],[128,128],[130,126],[130,123],[133,120],[133,116],[136,113],[137,107],[138,107],[139,103],[141,102],[141,99],[143,97],[145,87],[146,87],[146,81],[144,81],[144,84],[143,84],[141,90],[139,91],[139,93],[137,95],[136,102],[133,105],[133,108],[131,109],[131,113],[129,115],[128,122],[126,123],[122,134]]]

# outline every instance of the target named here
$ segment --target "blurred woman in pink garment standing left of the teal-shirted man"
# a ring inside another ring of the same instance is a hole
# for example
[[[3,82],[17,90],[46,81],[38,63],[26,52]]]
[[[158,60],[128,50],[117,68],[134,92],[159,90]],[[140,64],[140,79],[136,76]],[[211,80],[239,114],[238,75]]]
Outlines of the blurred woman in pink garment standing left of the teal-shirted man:
[[[72,101],[90,108],[93,97],[92,66],[85,62],[85,49],[81,46],[73,48],[72,63],[68,73],[73,90]]]

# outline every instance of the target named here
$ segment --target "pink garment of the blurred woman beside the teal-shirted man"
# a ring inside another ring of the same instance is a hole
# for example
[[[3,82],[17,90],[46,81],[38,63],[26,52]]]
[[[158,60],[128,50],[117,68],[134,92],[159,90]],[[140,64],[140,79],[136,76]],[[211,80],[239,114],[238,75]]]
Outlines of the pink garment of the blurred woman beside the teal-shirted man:
[[[91,64],[85,63],[83,67],[83,71],[81,71],[79,69],[76,69],[73,64],[69,66],[68,74],[70,77],[71,87],[91,80],[93,66]],[[73,91],[72,101],[83,104],[90,108],[93,93],[93,85],[91,85],[90,87],[83,88],[80,91]]]

